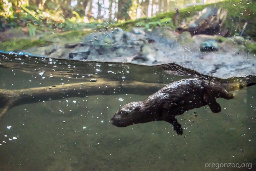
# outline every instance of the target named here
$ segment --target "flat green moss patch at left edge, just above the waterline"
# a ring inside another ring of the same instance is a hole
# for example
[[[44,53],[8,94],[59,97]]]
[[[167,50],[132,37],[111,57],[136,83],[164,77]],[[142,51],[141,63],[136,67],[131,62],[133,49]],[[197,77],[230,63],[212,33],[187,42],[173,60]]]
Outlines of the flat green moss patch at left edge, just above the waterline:
[[[24,50],[31,48],[33,46],[48,45],[51,42],[45,40],[29,40],[29,39],[9,39],[7,41],[1,42],[0,50],[3,51],[14,51],[14,50]]]

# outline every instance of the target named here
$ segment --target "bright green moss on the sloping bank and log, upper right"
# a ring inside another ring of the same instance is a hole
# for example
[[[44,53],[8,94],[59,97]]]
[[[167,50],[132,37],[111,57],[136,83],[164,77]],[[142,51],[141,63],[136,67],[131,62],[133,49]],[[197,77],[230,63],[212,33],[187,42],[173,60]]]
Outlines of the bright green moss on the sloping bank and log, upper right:
[[[207,6],[214,7],[215,4],[189,6],[185,9],[179,10],[180,21],[183,21],[185,18],[196,15],[197,11],[201,11]],[[246,27],[244,36],[250,36],[251,38],[256,39],[256,1],[222,1],[216,3],[216,6],[225,9],[228,12],[224,29],[228,29],[229,36],[233,36],[236,33],[239,34],[243,28],[244,23],[246,21],[250,21],[250,23]],[[139,18],[136,20],[128,20],[123,23],[114,24],[112,25],[112,27],[121,27],[123,29],[138,26],[148,27],[147,23],[149,25],[155,26],[157,22],[160,21],[161,23],[163,19],[173,19],[174,16],[174,11],[165,12],[151,18]],[[159,26],[161,26],[161,24]],[[169,26],[175,27],[173,23],[170,23]]]

